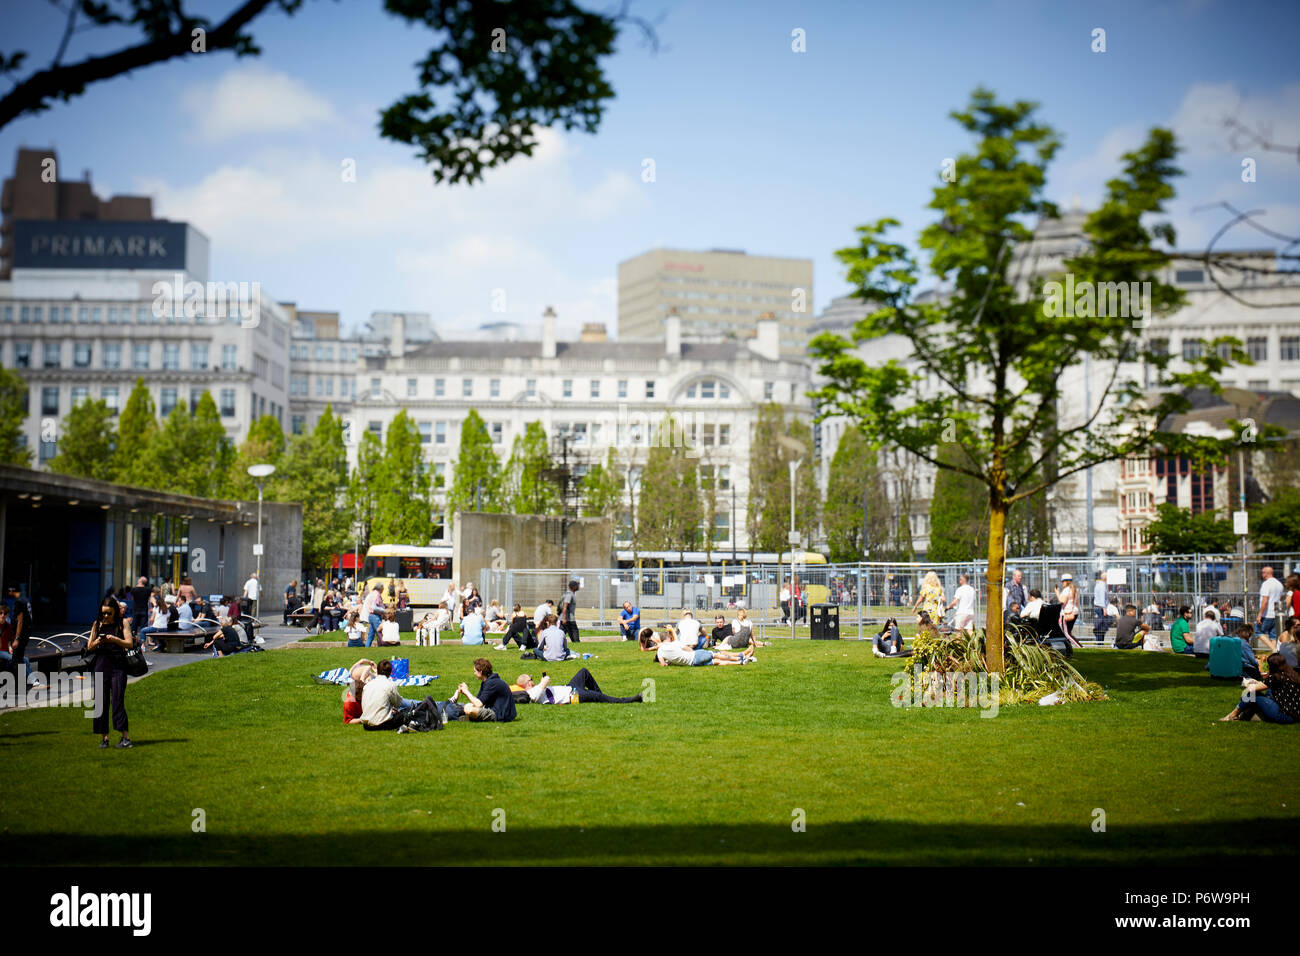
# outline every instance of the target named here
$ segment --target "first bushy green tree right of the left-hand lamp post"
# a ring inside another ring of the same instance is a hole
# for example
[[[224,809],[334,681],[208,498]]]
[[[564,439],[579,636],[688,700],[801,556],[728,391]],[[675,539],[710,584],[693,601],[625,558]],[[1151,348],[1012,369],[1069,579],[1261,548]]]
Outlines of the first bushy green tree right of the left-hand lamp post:
[[[303,562],[324,567],[344,549],[351,528],[348,511],[341,506],[347,490],[343,423],[330,406],[309,433],[289,441],[280,467],[283,499],[303,506]]]

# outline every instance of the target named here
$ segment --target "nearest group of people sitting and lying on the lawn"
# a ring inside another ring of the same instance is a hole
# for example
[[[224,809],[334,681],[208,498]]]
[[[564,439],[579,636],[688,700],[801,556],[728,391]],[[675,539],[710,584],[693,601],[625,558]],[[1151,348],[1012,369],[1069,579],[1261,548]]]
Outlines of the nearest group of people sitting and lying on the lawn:
[[[611,697],[601,691],[592,672],[582,667],[568,683],[556,684],[545,671],[534,682],[520,674],[516,683],[495,672],[491,661],[480,657],[473,663],[478,692],[464,682],[447,700],[426,696],[422,701],[402,696],[393,678],[393,661],[361,659],[352,665],[343,691],[343,721],[365,730],[393,730],[398,734],[442,730],[452,721],[510,723],[517,715],[517,704],[641,704],[640,693]]]

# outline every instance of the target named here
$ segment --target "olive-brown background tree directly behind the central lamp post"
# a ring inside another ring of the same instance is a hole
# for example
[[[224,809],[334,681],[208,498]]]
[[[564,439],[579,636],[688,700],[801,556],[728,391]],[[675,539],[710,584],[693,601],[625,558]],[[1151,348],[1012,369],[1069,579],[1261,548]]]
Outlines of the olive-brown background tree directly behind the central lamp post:
[[[794,447],[802,447],[796,453]],[[758,410],[749,458],[749,502],[746,523],[750,550],[789,550],[790,533],[790,468],[800,454],[803,463],[796,473],[794,527],[811,538],[818,527],[822,493],[816,486],[812,464],[812,429],[797,415],[785,419],[785,410],[767,403]]]

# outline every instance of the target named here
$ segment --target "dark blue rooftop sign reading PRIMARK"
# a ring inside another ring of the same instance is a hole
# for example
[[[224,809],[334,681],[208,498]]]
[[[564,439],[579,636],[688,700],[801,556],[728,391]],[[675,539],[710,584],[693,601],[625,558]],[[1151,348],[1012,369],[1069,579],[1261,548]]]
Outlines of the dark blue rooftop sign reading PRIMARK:
[[[188,268],[199,263],[202,269]],[[18,220],[14,222],[13,267],[205,273],[207,239],[187,222]]]

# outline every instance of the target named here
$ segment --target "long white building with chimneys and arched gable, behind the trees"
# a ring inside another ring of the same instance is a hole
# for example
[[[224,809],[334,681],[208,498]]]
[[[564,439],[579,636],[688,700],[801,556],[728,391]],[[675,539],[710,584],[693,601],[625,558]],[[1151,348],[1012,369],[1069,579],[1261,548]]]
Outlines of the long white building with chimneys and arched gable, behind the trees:
[[[434,486],[446,489],[460,424],[471,410],[482,416],[503,463],[515,438],[540,421],[556,455],[555,442],[564,437],[576,477],[603,463],[614,447],[634,486],[651,442],[666,438],[655,429],[672,414],[682,429],[680,440],[716,479],[714,548],[723,551],[734,544],[744,551],[758,408],[777,402],[805,416],[811,412],[803,397],[807,363],[781,355],[775,319],[755,324],[757,336],[742,342],[693,341],[677,316],[667,317],[662,342],[614,342],[597,338],[594,329],[588,329],[588,341],[560,342],[556,316],[547,310],[541,341],[439,341],[403,349],[395,323],[387,355],[363,358],[352,432],[386,434],[396,414],[407,411],[426,447]],[[355,464],[355,442],[350,455]]]

